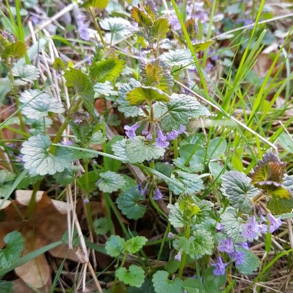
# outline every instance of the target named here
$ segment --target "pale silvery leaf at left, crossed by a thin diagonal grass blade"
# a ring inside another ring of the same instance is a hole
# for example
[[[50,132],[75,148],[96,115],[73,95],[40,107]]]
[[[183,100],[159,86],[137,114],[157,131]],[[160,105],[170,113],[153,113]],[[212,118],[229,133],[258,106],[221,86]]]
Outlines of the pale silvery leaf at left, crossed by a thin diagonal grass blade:
[[[21,113],[29,119],[41,120],[48,116],[48,113],[63,113],[65,109],[63,105],[55,98],[52,98],[48,93],[40,94],[38,89],[29,89],[21,93],[20,102],[26,104]],[[34,98],[35,96],[38,97]],[[34,98],[34,99],[33,99]],[[32,100],[33,99],[33,100]],[[30,101],[32,100],[32,101]]]

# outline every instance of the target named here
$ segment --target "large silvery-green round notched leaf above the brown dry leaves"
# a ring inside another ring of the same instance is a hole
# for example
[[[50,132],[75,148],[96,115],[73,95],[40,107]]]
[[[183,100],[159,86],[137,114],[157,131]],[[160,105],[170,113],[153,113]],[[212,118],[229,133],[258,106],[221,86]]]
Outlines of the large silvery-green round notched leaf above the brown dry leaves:
[[[65,147],[57,146],[55,153],[51,154],[48,151],[50,145],[50,137],[43,134],[32,136],[22,144],[22,160],[30,176],[53,175],[71,166],[73,153]]]

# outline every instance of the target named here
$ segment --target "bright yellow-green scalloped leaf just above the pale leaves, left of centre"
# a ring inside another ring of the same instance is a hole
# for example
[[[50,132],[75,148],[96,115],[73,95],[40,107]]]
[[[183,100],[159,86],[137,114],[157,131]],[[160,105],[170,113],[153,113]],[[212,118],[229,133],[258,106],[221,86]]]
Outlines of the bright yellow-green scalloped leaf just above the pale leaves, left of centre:
[[[125,64],[125,60],[113,57],[102,60],[89,67],[89,77],[98,83],[112,81],[114,78],[119,77],[125,68]]]

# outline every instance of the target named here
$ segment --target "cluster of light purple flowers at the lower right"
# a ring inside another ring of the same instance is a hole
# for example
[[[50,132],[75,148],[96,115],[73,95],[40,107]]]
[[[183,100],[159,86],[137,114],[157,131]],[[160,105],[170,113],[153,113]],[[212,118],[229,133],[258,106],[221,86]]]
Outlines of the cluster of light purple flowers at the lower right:
[[[256,216],[253,215],[251,218],[245,223],[242,224],[242,233],[241,235],[244,238],[247,238],[249,241],[253,241],[253,239],[260,236],[262,233],[266,233],[268,230],[272,233],[277,230],[282,222],[278,218],[276,219],[271,213],[268,213],[269,225],[264,224],[266,221],[264,216],[260,217],[260,222],[256,221]],[[224,231],[224,226],[218,223],[216,225],[216,230]],[[225,240],[219,240],[218,251],[226,252],[229,255],[231,261],[235,262],[236,266],[240,266],[244,262],[244,253],[242,251],[237,250],[238,248],[249,249],[249,242],[237,243],[234,244],[232,239],[228,237]],[[217,257],[217,261],[212,266],[215,267],[213,273],[215,275],[223,275],[225,274],[225,268],[228,263],[223,263],[223,259],[221,256]]]

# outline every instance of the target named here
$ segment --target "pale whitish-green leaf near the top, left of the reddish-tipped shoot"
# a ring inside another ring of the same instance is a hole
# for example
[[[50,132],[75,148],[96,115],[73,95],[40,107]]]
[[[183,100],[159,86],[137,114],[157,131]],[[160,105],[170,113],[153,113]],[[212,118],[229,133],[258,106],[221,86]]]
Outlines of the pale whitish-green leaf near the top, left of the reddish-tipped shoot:
[[[121,17],[103,18],[100,21],[103,29],[110,31],[113,35],[127,36],[131,33],[131,23]]]

